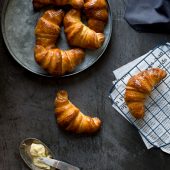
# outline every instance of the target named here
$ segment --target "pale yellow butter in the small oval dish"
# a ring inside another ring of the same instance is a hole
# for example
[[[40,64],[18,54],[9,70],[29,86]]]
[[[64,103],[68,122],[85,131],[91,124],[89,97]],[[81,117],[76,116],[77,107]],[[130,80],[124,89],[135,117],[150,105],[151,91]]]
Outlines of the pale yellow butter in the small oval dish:
[[[47,157],[47,158],[50,157],[50,155],[46,154],[46,149],[42,144],[32,143],[31,148],[30,148],[30,154],[32,156],[32,161],[33,161],[35,166],[37,166],[41,169],[50,170],[50,166],[42,163],[39,160],[40,157]]]

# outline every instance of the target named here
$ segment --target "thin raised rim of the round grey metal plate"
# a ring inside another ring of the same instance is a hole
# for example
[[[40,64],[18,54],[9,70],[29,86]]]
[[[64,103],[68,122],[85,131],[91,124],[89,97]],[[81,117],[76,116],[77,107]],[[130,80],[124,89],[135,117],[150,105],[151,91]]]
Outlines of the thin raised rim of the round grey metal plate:
[[[111,35],[112,35],[112,31],[113,31],[113,14],[112,14],[112,11],[111,11],[111,3],[109,0],[106,0],[107,3],[108,3],[108,11],[109,11],[109,17],[110,17],[110,20],[111,20],[111,24],[109,24],[109,28],[110,28],[110,33],[108,35],[108,40],[103,48],[103,51],[100,53],[100,55],[98,55],[98,57],[96,58],[96,60],[94,60],[93,62],[91,62],[89,65],[87,65],[86,67],[84,67],[82,70],[79,70],[77,72],[73,72],[73,73],[68,73],[68,74],[65,74],[63,76],[55,76],[55,75],[50,75],[50,74],[43,74],[43,73],[40,73],[40,72],[36,72],[34,70],[32,70],[31,68],[27,67],[23,62],[21,62],[17,57],[16,55],[14,54],[14,52],[12,51],[12,49],[10,48],[10,44],[6,38],[6,33],[5,33],[5,14],[6,14],[6,9],[8,7],[8,3],[9,3],[10,0],[5,0],[4,3],[3,3],[3,7],[2,7],[2,13],[1,13],[1,31],[2,31],[2,36],[3,36],[3,40],[4,40],[4,43],[6,45],[6,48],[8,49],[10,55],[12,56],[12,58],[19,64],[21,65],[23,68],[25,68],[26,70],[28,70],[29,72],[33,73],[33,74],[36,74],[36,75],[39,75],[39,76],[43,76],[43,77],[57,77],[57,78],[60,78],[60,77],[69,77],[69,76],[73,76],[73,75],[76,75],[78,73],[81,73],[83,71],[85,71],[86,69],[88,69],[89,67],[93,66],[100,58],[101,56],[104,54],[104,52],[106,51],[108,45],[109,45],[109,42],[110,42],[110,39],[111,39]]]

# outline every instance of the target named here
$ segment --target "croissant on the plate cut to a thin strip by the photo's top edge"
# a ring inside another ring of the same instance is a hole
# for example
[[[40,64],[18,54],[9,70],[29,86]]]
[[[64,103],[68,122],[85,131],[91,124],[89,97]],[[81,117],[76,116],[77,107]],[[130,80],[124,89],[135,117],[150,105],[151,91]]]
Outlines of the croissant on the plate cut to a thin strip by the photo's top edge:
[[[33,0],[34,9],[42,8],[46,5],[71,5],[73,8],[80,9],[84,5],[83,0]]]

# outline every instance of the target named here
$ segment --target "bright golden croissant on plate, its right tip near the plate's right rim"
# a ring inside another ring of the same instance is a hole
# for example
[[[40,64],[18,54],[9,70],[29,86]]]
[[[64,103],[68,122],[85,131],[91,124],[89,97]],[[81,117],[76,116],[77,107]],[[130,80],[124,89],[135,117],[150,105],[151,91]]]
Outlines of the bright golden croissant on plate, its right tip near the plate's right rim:
[[[105,40],[104,34],[96,33],[81,22],[79,10],[71,9],[65,15],[64,29],[68,43],[72,46],[96,49]]]

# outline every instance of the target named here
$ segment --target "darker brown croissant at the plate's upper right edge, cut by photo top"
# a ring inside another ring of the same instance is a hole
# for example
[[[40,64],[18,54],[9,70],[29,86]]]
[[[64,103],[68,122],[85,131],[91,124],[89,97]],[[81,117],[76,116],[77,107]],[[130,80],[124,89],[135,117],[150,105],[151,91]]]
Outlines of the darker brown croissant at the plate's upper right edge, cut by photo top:
[[[95,32],[103,32],[108,20],[106,0],[84,0],[84,9],[88,17],[88,27]]]

